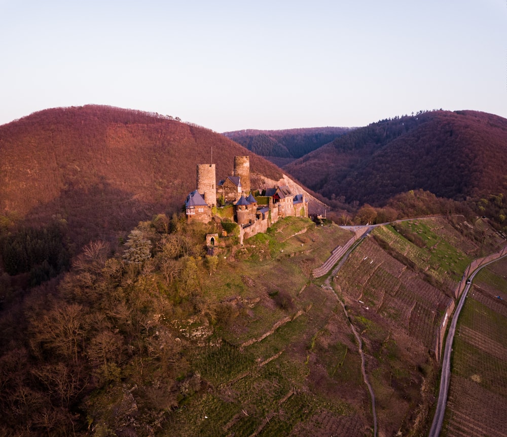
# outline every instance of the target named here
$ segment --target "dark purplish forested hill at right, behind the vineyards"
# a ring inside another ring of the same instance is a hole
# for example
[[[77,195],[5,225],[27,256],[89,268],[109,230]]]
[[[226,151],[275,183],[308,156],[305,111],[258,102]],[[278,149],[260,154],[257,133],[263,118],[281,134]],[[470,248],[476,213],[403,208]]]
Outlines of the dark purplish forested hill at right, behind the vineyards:
[[[325,197],[347,203],[382,205],[419,188],[463,200],[505,191],[506,153],[505,118],[438,110],[356,129],[286,170]]]

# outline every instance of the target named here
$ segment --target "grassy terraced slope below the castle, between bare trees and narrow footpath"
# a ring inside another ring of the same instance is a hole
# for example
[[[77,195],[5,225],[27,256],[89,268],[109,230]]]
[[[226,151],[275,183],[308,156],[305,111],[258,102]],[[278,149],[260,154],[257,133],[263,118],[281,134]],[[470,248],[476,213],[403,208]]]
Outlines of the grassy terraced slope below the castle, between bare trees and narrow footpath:
[[[221,295],[234,290],[234,324],[194,349],[194,376],[171,415],[171,436],[369,435],[347,321],[336,299],[302,274],[351,234],[314,225],[300,233],[305,228],[302,220],[280,221],[245,242],[236,254],[241,270],[234,263],[216,273]]]

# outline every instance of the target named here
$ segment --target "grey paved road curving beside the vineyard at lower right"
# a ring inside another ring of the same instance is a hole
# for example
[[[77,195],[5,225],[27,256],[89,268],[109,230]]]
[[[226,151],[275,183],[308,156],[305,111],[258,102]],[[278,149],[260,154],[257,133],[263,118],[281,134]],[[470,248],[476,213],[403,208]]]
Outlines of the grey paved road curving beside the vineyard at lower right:
[[[482,266],[480,266],[477,270],[475,270],[470,275],[470,280],[473,280],[475,275],[481,270],[481,268],[486,267],[487,265],[498,261],[501,258],[504,258],[504,256],[497,258],[493,261],[490,261]],[[445,342],[445,350],[444,350],[444,357],[442,360],[442,376],[440,378],[440,391],[439,391],[439,399],[437,402],[437,410],[435,411],[435,415],[433,417],[433,423],[431,424],[431,428],[429,430],[428,437],[439,437],[440,431],[442,429],[442,423],[444,421],[444,415],[445,415],[445,407],[447,404],[447,395],[449,393],[449,383],[451,379],[451,352],[452,352],[452,341],[454,339],[454,333],[456,332],[456,324],[458,322],[458,316],[459,312],[461,311],[461,308],[463,307],[463,304],[466,299],[466,295],[468,294],[468,290],[470,289],[470,284],[468,284],[465,289],[463,290],[463,293],[461,294],[461,298],[459,300],[458,306],[454,310],[454,315],[452,317],[451,326],[449,327],[449,333],[447,334],[447,340]]]

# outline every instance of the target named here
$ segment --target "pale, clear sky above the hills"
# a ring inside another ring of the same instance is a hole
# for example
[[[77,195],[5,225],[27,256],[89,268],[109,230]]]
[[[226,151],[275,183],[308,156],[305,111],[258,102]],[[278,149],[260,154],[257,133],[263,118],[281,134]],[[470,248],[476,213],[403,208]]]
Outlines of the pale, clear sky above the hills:
[[[0,0],[0,125],[85,104],[215,132],[507,117],[507,4]]]

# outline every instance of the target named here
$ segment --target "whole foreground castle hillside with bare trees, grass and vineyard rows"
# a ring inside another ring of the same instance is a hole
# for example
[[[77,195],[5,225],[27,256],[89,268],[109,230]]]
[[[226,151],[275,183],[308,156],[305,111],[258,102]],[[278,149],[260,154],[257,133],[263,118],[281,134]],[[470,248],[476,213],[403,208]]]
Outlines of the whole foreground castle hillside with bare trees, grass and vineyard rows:
[[[287,218],[206,256],[216,224],[174,225],[131,232],[143,264],[90,244],[0,311],[0,434],[372,435],[362,350],[378,435],[426,435],[444,310],[470,259],[503,243],[481,219],[407,221],[315,279],[350,231]]]

